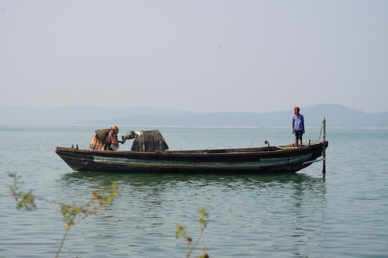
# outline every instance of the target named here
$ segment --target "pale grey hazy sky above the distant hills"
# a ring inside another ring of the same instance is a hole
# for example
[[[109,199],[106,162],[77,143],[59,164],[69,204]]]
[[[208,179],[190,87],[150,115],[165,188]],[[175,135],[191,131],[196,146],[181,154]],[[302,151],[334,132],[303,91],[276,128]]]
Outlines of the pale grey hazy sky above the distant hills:
[[[0,0],[0,103],[388,111],[387,0]]]

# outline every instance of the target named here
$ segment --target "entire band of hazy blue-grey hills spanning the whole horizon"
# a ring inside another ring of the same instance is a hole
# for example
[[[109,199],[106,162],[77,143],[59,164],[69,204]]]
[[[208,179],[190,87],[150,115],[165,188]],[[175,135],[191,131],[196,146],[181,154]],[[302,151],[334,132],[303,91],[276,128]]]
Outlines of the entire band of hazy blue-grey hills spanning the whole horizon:
[[[202,113],[152,107],[108,108],[72,106],[34,108],[0,105],[1,125],[54,126],[184,126],[184,127],[291,127],[291,111],[269,113]],[[370,114],[338,104],[301,109],[306,127],[320,128],[323,116],[328,128],[388,128],[388,112]],[[107,119],[109,118],[109,119]]]

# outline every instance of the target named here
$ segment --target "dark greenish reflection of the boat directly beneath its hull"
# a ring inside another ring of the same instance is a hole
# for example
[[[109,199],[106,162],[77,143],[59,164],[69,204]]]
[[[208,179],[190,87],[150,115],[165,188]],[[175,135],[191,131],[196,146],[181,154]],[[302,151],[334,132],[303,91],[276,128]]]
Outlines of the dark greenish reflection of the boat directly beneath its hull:
[[[71,186],[89,184],[109,186],[113,181],[120,187],[133,186],[142,188],[151,186],[164,188],[166,186],[229,186],[238,189],[239,187],[263,188],[263,187],[287,187],[295,190],[295,194],[305,187],[315,189],[318,192],[325,192],[325,178],[310,176],[302,173],[290,174],[241,174],[241,175],[220,175],[220,174],[142,174],[142,173],[114,173],[114,172],[70,172],[63,175],[63,183]],[[288,186],[287,186],[288,185]]]

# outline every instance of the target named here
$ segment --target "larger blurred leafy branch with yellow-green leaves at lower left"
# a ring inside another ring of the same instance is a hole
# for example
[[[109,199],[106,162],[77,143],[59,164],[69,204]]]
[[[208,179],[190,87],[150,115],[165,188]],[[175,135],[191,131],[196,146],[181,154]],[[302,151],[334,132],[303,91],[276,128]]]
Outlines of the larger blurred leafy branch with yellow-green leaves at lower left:
[[[26,209],[26,210],[35,210],[35,200],[39,199],[42,201],[47,201],[49,203],[60,205],[61,213],[63,215],[62,220],[65,222],[65,233],[62,238],[61,244],[58,247],[58,250],[55,254],[55,257],[59,257],[59,253],[61,252],[62,246],[65,243],[65,239],[69,229],[76,224],[76,219],[84,219],[90,214],[96,214],[100,211],[104,206],[111,205],[113,199],[120,194],[120,190],[116,185],[116,182],[113,182],[111,186],[106,189],[104,194],[99,194],[96,191],[92,191],[92,198],[82,205],[74,205],[74,204],[65,204],[58,201],[48,200],[46,198],[42,198],[39,196],[35,196],[32,194],[32,190],[28,192],[23,192],[19,188],[19,184],[23,183],[20,181],[21,176],[18,176],[16,173],[8,173],[10,177],[14,179],[14,183],[11,186],[8,186],[11,192],[11,196],[15,198],[16,208]]]

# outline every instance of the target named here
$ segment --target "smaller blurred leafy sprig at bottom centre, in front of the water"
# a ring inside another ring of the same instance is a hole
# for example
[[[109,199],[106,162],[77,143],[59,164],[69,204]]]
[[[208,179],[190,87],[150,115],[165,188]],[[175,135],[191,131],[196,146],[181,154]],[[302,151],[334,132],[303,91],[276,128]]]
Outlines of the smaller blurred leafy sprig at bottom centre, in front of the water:
[[[189,258],[194,250],[194,248],[197,246],[199,241],[201,241],[203,234],[205,232],[205,228],[208,225],[208,219],[209,218],[209,213],[206,211],[207,208],[211,207],[199,207],[198,208],[198,216],[199,216],[199,224],[201,225],[201,233],[198,237],[198,239],[193,243],[193,239],[189,236],[186,235],[186,227],[178,224],[176,228],[178,231],[175,233],[176,238],[178,239],[179,237],[182,237],[184,240],[187,242],[187,247],[189,248],[186,258]],[[196,256],[196,258],[209,258],[209,255],[206,253],[206,246],[202,248],[203,254],[200,256]]]

